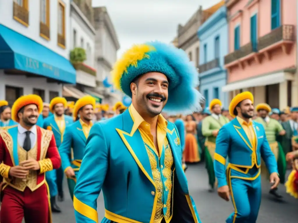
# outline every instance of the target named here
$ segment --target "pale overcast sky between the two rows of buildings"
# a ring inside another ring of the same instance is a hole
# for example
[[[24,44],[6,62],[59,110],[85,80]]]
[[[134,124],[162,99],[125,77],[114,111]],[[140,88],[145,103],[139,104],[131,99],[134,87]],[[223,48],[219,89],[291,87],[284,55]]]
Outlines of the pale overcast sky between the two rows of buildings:
[[[118,56],[134,43],[160,40],[169,43],[183,24],[202,5],[207,9],[220,0],[92,0],[105,6],[120,43]]]

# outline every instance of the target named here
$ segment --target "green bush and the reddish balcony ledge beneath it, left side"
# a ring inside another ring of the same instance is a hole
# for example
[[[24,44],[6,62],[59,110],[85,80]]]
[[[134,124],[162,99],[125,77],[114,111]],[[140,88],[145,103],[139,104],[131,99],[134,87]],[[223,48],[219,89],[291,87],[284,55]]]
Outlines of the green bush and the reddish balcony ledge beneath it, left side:
[[[82,70],[86,73],[89,73],[93,76],[96,76],[96,70],[86,64],[86,51],[83,48],[76,47],[70,51],[70,62],[75,67],[76,70]]]

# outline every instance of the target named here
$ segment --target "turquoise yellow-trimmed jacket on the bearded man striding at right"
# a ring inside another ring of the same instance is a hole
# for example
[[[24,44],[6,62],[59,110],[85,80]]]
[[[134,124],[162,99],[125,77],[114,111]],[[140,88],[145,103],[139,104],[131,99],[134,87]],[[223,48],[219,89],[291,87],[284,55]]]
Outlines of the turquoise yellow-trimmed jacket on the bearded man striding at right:
[[[265,129],[262,124],[252,122],[256,145],[251,145],[245,131],[237,118],[225,124],[216,137],[214,154],[215,176],[218,179],[218,187],[227,185],[226,158],[229,157],[228,168],[231,168],[229,177],[254,180],[260,175],[261,158],[266,163],[269,173],[277,172],[277,162],[268,144]],[[257,167],[254,174],[249,171]]]

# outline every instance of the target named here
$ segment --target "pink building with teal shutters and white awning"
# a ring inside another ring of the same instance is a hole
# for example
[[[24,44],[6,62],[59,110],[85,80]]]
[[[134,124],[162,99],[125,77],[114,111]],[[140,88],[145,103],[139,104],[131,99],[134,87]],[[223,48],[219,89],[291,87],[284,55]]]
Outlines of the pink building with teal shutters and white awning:
[[[227,0],[230,98],[249,90],[255,104],[298,105],[297,0]]]

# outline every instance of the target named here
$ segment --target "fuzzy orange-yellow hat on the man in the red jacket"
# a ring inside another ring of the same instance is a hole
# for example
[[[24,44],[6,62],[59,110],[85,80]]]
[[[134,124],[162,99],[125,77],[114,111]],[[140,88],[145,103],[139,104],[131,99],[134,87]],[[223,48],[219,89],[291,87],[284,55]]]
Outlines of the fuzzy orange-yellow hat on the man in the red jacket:
[[[18,112],[21,108],[27,105],[35,104],[38,108],[38,114],[42,112],[44,107],[44,103],[38,95],[24,95],[19,97],[13,103],[13,107],[11,108],[11,119],[15,122],[19,122],[20,119],[18,118]]]

